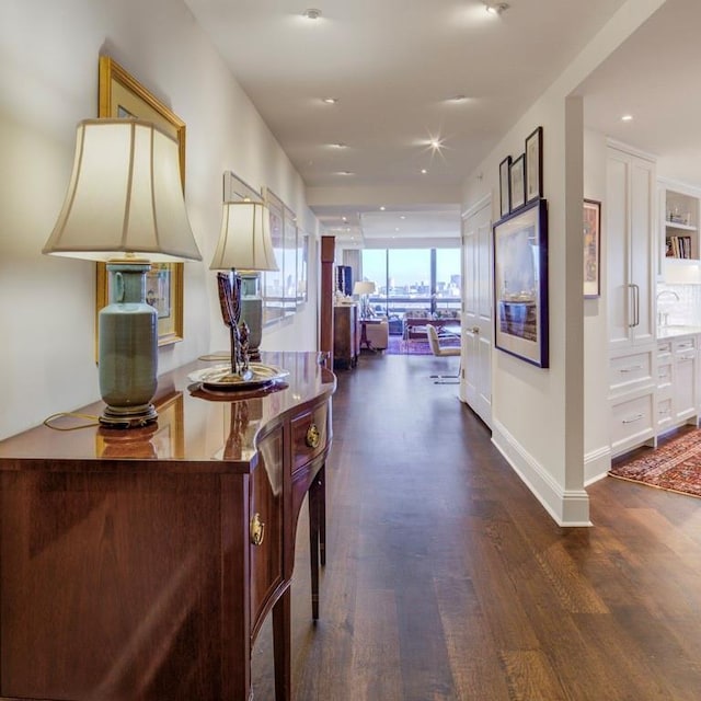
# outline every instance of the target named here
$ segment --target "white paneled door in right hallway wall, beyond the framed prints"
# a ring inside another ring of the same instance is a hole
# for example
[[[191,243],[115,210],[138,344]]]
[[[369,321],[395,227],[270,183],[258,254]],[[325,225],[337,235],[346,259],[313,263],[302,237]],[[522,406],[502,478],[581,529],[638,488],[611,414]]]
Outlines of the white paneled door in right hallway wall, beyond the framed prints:
[[[462,222],[462,372],[460,399],[492,427],[492,202]]]

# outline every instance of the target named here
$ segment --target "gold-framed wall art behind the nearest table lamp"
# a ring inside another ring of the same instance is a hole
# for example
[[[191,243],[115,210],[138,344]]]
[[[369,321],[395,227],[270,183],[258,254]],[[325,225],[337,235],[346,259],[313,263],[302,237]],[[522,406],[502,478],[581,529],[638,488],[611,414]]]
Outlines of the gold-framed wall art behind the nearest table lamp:
[[[177,141],[180,175],[184,191],[185,123],[108,56],[100,57],[99,93],[97,116],[148,119]],[[182,341],[183,263],[152,264],[147,285],[147,301],[158,309],[159,346]],[[106,267],[104,263],[97,263],[95,315],[108,300]]]

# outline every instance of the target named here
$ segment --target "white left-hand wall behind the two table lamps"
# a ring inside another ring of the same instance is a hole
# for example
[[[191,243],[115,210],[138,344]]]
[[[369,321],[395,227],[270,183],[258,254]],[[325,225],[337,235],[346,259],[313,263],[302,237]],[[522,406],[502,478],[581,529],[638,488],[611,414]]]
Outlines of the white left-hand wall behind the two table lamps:
[[[203,263],[185,265],[185,340],[160,371],[226,348],[214,273],[222,174],[275,192],[312,234],[303,183],[180,0],[3,0],[0,8],[0,438],[99,399],[94,265],[41,254],[62,204],[76,124],[97,114],[97,58],[112,56],[187,124],[186,205]],[[310,302],[263,347],[308,349]]]

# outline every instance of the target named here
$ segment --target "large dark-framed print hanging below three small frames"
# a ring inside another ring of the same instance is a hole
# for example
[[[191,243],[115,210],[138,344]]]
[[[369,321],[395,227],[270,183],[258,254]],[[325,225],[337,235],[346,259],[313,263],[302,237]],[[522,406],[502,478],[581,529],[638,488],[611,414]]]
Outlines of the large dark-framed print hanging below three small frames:
[[[549,367],[548,203],[537,199],[493,227],[494,345]]]

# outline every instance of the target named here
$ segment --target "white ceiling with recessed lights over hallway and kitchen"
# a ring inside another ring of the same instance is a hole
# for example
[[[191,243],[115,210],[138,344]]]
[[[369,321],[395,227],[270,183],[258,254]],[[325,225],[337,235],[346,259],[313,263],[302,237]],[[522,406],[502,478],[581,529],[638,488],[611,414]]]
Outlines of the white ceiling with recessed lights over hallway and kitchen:
[[[508,1],[493,16],[482,0],[185,0],[326,232],[357,244],[458,237],[461,182],[624,2]],[[663,170],[688,154],[700,33],[701,0],[668,0],[583,83],[587,125],[657,153]]]

